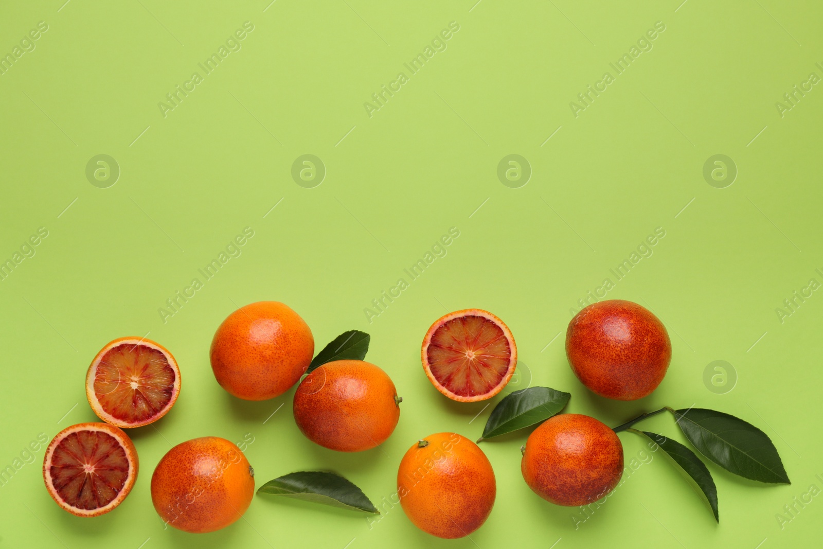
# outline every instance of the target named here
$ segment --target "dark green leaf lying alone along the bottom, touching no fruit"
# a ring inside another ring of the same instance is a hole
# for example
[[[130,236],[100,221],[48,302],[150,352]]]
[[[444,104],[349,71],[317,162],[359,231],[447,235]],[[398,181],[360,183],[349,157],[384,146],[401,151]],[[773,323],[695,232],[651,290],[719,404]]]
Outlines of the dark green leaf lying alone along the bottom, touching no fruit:
[[[259,493],[288,495],[298,500],[380,514],[360,488],[333,472],[291,472],[260,486]]]

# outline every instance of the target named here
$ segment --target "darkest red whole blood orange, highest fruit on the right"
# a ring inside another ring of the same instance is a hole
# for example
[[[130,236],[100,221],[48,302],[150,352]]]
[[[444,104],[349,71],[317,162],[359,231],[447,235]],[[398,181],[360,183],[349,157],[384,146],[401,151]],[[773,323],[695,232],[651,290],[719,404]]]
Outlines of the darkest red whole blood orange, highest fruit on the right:
[[[594,393],[616,400],[648,396],[672,361],[666,328],[631,301],[588,305],[569,323],[566,356],[574,375]]]

